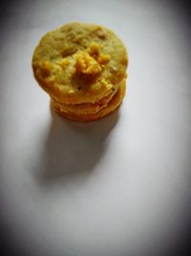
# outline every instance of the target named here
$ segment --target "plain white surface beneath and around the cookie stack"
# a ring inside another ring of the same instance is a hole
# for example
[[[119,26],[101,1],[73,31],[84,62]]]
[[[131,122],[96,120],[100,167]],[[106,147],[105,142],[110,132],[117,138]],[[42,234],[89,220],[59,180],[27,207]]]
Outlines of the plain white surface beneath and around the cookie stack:
[[[102,2],[102,3],[101,3]],[[5,9],[0,62],[1,200],[32,255],[157,255],[190,198],[190,29],[160,1],[32,1]],[[63,121],[32,77],[32,51],[70,21],[114,30],[130,58],[118,113]]]

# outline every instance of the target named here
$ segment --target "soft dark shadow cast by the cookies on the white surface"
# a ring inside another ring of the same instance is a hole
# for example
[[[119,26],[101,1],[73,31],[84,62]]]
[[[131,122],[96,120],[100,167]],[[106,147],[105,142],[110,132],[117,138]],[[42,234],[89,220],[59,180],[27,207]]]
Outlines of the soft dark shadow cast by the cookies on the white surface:
[[[107,137],[117,124],[118,109],[92,123],[68,121],[51,111],[52,124],[33,175],[45,187],[84,180],[107,151]]]

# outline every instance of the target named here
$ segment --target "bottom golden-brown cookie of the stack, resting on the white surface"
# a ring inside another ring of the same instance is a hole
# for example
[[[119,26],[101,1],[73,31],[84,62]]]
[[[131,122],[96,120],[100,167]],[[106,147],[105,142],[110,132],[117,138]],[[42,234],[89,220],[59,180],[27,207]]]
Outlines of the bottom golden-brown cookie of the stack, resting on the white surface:
[[[79,114],[70,113],[68,111],[63,112],[60,110],[59,107],[57,107],[57,105],[54,105],[53,102],[52,102],[52,106],[54,110],[62,117],[66,117],[76,122],[92,122],[112,113],[117,108],[117,106],[121,104],[122,99],[125,95],[125,91],[126,91],[126,84],[123,83],[119,86],[117,93],[115,94],[113,99],[109,102],[109,104],[106,107],[102,108],[100,111],[98,111],[96,114],[79,115]]]

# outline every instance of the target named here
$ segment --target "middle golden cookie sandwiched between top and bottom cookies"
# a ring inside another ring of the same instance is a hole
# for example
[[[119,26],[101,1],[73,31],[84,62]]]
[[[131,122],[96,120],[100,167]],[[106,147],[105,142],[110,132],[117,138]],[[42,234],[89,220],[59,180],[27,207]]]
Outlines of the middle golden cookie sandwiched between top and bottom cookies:
[[[57,105],[60,111],[70,112],[76,115],[96,114],[96,112],[100,111],[101,108],[108,105],[108,103],[112,100],[114,95],[117,93],[117,89],[120,86],[120,84],[123,84],[125,82],[126,82],[125,80],[120,81],[116,87],[116,90],[110,93],[107,97],[104,97],[101,100],[97,101],[95,104],[64,105],[54,101],[52,98],[53,105]]]

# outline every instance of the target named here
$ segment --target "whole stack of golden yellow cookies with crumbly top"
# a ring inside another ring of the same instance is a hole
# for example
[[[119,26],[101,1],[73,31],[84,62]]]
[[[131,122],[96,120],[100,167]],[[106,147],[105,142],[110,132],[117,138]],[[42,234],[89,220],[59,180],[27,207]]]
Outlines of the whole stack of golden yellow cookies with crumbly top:
[[[127,53],[112,31],[70,23],[42,37],[32,68],[63,117],[91,122],[113,112],[126,89]]]

